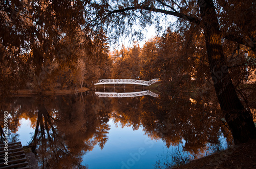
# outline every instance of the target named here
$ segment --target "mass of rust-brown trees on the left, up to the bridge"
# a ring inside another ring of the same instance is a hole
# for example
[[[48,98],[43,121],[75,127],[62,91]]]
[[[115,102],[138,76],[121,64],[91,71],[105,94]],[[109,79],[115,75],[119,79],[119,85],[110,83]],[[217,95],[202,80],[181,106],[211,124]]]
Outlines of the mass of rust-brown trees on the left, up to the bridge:
[[[59,80],[58,73],[70,75],[72,87],[82,86],[83,81],[92,83],[100,73],[110,74],[107,38],[86,23],[88,3],[1,1],[1,96],[28,86],[51,89]],[[85,80],[80,80],[83,75]]]

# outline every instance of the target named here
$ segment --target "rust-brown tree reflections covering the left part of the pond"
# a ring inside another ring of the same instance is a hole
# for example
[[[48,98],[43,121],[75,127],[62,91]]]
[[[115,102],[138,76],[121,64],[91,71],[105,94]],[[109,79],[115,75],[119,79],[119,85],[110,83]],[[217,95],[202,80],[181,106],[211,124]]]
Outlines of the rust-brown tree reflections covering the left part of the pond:
[[[95,111],[88,106],[88,97],[84,102],[73,96],[26,99],[8,103],[13,115],[10,121],[17,124],[11,129],[17,130],[21,118],[31,119],[35,131],[29,147],[42,168],[84,168],[80,165],[82,155],[97,143],[102,149],[108,140],[108,114],[104,107]]]

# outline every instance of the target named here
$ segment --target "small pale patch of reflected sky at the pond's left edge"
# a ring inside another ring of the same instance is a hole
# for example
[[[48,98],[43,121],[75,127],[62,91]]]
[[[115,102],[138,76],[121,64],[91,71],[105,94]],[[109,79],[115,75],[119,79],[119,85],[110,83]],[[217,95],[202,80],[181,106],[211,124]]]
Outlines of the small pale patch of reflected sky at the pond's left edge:
[[[28,119],[20,119],[19,120],[20,126],[18,127],[18,131],[16,132],[19,134],[19,141],[22,142],[23,146],[27,146],[31,140],[31,132],[34,132],[34,129],[31,127],[31,121]]]

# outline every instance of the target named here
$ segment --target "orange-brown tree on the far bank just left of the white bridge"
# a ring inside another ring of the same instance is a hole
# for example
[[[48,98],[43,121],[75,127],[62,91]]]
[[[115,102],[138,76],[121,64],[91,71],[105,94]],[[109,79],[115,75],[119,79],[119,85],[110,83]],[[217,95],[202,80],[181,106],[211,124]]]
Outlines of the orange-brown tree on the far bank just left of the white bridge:
[[[62,75],[62,86],[82,88],[85,82],[86,87],[91,87],[93,81],[99,78],[109,78],[112,63],[107,41],[108,38],[102,30],[91,35],[89,40],[81,40],[79,43],[82,45],[75,51],[77,61],[69,65],[59,64],[60,70],[55,72],[56,76]]]

